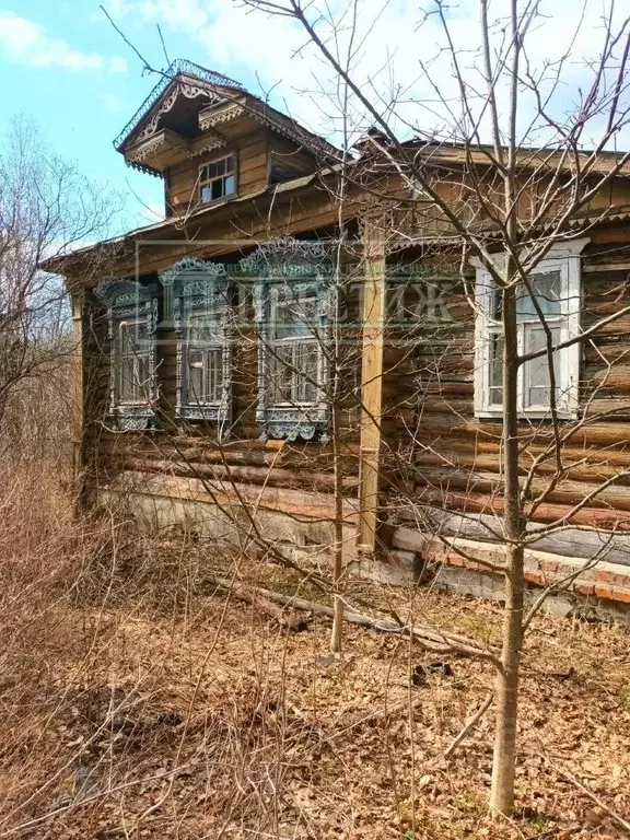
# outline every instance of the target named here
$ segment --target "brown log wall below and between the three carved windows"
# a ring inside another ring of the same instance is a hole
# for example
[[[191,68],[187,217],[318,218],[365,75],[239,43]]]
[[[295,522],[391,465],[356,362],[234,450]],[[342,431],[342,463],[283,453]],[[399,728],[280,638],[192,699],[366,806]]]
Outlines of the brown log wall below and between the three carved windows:
[[[325,235],[324,232],[322,235]],[[234,262],[247,252],[223,254],[220,261]],[[340,348],[343,357],[337,405],[339,458],[342,464],[343,516],[348,549],[353,547],[359,471],[358,383],[360,382],[360,288],[350,257],[342,275],[343,325]],[[156,275],[140,278],[154,282]],[[233,296],[232,425],[226,440],[219,442],[217,427],[186,422],[177,417],[176,338],[172,323],[163,320],[158,335],[160,423],[139,432],[110,428],[106,397],[93,409],[93,427],[102,500],[132,500],[142,517],[161,524],[188,518],[195,527],[238,540],[233,522],[250,529],[238,511],[243,503],[256,511],[258,525],[269,525],[267,537],[284,544],[329,547],[335,520],[334,450],[331,443],[306,441],[260,441],[256,420],[258,405],[258,352],[260,346],[254,318],[253,287],[236,283]],[[94,335],[106,335],[106,312],[92,308]],[[86,346],[85,346],[86,347]],[[103,338],[94,376],[107,392],[110,348]],[[95,411],[95,412],[94,412]],[[212,510],[211,510],[212,509]],[[217,510],[220,514],[217,514]],[[214,520],[219,518],[217,524]],[[200,523],[206,522],[206,525]],[[241,535],[242,536],[242,535]]]

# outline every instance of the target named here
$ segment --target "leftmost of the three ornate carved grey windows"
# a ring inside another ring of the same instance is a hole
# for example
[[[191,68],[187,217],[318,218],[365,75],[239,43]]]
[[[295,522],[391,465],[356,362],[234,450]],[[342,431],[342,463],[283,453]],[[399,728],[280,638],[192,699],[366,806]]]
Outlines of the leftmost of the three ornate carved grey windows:
[[[156,419],[158,290],[113,280],[98,292],[107,303],[109,419],[119,430],[147,429]]]

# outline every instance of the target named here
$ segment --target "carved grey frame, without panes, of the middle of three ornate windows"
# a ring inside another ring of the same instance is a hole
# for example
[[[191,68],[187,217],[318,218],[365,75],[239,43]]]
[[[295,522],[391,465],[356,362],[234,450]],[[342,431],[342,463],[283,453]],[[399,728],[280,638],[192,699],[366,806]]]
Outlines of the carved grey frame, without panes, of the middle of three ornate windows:
[[[219,438],[229,434],[232,421],[232,285],[223,266],[186,257],[160,275],[164,289],[165,317],[173,319],[176,338],[176,412],[183,420],[211,422]],[[221,351],[221,388],[217,399],[203,400],[189,382],[192,318],[220,330],[206,350]]]

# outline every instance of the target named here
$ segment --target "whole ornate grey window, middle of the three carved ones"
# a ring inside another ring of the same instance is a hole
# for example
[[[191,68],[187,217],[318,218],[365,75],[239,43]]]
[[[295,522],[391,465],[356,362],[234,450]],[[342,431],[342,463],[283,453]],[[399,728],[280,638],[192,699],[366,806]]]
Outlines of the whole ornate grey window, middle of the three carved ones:
[[[160,276],[177,342],[176,410],[228,433],[231,417],[230,282],[222,265],[185,258]]]

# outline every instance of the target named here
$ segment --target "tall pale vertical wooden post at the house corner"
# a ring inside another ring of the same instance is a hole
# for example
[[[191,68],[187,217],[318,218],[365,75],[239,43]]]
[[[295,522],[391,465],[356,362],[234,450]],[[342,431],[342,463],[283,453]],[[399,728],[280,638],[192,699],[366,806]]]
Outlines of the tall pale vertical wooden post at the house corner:
[[[385,343],[385,242],[383,225],[375,220],[364,222],[363,261],[361,442],[357,547],[360,553],[373,555],[376,550],[378,526]]]

